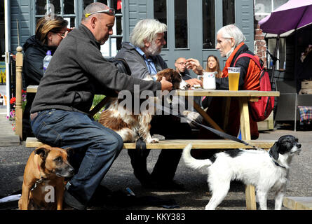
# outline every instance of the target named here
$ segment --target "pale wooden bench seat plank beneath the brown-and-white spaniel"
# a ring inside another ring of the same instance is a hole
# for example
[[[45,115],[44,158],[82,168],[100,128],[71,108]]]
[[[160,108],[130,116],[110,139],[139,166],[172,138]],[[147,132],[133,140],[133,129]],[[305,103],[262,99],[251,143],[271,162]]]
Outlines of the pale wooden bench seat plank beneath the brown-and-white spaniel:
[[[177,148],[182,149],[187,144],[191,143],[192,148],[201,148],[201,149],[209,149],[209,148],[251,148],[250,146],[245,146],[244,144],[240,144],[236,141],[231,140],[186,140],[186,139],[175,139],[175,140],[161,140],[156,144],[147,144],[147,148],[149,149],[163,149],[163,148]],[[252,144],[254,146],[268,149],[273,146],[273,140],[249,140],[248,144]],[[26,139],[26,147],[39,147],[42,143],[38,141],[36,138],[28,137]],[[135,149],[135,143],[125,143],[123,144],[123,148],[126,149]]]

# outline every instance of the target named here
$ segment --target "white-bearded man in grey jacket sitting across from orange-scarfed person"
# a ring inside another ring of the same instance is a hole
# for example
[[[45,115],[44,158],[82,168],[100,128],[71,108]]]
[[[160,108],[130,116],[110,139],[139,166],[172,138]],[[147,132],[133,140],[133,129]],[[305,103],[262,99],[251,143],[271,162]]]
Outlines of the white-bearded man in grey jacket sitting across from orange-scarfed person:
[[[131,76],[149,78],[168,66],[159,55],[165,45],[167,26],[158,20],[144,19],[137,22],[130,34],[130,43],[123,42],[116,58],[125,59]],[[165,139],[189,139],[191,127],[181,123],[170,115],[154,116],[151,120],[151,134],[161,134]],[[128,150],[135,177],[144,188],[181,189],[182,184],[173,181],[182,151],[177,149],[162,150],[153,172],[147,171],[147,156],[149,150]]]

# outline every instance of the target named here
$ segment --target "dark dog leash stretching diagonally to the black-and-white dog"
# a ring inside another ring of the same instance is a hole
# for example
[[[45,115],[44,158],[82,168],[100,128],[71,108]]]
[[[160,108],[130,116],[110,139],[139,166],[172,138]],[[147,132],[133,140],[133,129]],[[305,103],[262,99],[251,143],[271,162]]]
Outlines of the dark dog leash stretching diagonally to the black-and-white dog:
[[[258,150],[258,151],[264,151],[263,148],[259,148],[259,147],[257,147],[257,146],[252,146],[252,145],[250,145],[249,143],[247,143],[246,141],[243,141],[243,140],[241,140],[241,139],[238,139],[238,138],[236,138],[236,137],[233,137],[233,136],[230,135],[230,134],[226,134],[225,132],[220,132],[220,131],[218,131],[218,130],[215,130],[215,129],[212,128],[212,127],[208,127],[208,126],[206,126],[206,125],[202,125],[202,124],[196,122],[195,120],[191,120],[190,118],[187,118],[186,116],[182,115],[182,114],[179,113],[178,111],[176,111],[176,113],[172,113],[172,112],[173,112],[173,109],[171,109],[171,108],[168,108],[168,107],[165,107],[165,106],[162,106],[162,105],[156,103],[156,109],[159,109],[159,110],[161,110],[161,111],[164,111],[165,113],[169,113],[170,115],[173,115],[173,116],[175,116],[175,117],[177,117],[177,118],[184,118],[184,119],[186,119],[186,120],[189,120],[189,121],[191,121],[192,123],[195,123],[196,125],[199,125],[199,126],[201,126],[201,127],[204,127],[205,129],[209,130],[210,132],[213,132],[213,133],[217,134],[217,136],[222,137],[222,138],[224,138],[224,139],[229,139],[229,140],[232,140],[232,141],[237,141],[237,142],[239,142],[239,143],[241,143],[241,144],[244,144],[245,146],[250,146],[250,147],[252,147],[252,148],[255,148],[255,149]]]

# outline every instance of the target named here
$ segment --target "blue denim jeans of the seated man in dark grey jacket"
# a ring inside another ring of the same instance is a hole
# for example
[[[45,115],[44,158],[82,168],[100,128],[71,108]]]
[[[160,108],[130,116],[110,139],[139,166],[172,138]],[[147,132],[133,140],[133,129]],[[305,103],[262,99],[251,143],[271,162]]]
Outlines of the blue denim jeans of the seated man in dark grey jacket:
[[[123,139],[86,114],[74,111],[41,111],[31,125],[35,137],[43,143],[83,152],[68,192],[87,204],[123,148]]]

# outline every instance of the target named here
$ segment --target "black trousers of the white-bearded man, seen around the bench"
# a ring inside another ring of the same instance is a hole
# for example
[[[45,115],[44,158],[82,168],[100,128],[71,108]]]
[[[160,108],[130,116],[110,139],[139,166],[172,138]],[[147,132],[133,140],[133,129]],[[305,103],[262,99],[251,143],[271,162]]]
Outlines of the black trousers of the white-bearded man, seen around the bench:
[[[165,139],[191,139],[191,127],[188,123],[182,123],[179,118],[171,115],[154,116],[151,120],[151,135],[161,134]],[[136,150],[128,150],[134,174],[139,181],[147,181],[151,178],[156,181],[172,181],[179,165],[182,150],[162,149],[156,165],[149,176],[147,172],[147,156],[150,150],[141,153]]]

